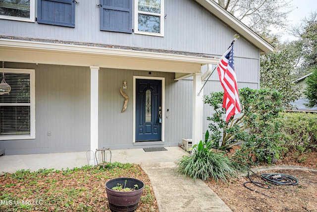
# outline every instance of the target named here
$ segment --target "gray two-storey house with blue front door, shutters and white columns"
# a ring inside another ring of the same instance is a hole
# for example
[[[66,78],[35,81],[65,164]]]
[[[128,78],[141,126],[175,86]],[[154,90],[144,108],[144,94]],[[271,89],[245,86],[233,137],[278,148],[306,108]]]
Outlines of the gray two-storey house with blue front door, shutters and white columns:
[[[273,50],[213,0],[5,0],[0,14],[6,154],[197,143],[211,112],[197,95],[206,65],[240,34],[238,87],[257,89]],[[215,71],[202,93],[220,90]]]

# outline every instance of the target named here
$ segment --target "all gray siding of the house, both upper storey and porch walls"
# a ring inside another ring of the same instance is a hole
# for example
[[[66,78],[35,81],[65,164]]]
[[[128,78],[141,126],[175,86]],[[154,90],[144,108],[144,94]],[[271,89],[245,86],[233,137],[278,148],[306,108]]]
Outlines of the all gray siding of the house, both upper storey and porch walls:
[[[232,42],[233,35],[236,34],[194,0],[164,1],[166,14],[164,37],[101,31],[100,8],[96,7],[96,2],[82,0],[80,4],[76,4],[74,28],[0,19],[0,37],[3,35],[13,36],[14,39],[31,38],[35,41],[50,39],[60,40],[63,43],[82,42],[83,46],[86,45],[84,43],[96,43],[173,50],[220,58]],[[260,50],[243,37],[235,42],[234,48],[238,87],[259,88]],[[50,60],[50,64],[58,63],[54,58]],[[105,60],[107,60],[106,56]],[[6,154],[89,150],[91,145],[90,68],[77,67],[75,64],[74,66],[30,64],[32,62],[33,60],[28,63],[5,62],[5,68],[35,70],[36,139],[0,141],[0,148],[5,148]],[[124,64],[124,61],[122,63]],[[94,65],[96,64],[91,64]],[[152,71],[149,74],[149,71],[132,69],[133,67],[131,70],[108,68],[99,70],[99,147],[112,149],[142,147],[132,142],[134,76],[165,78],[165,104],[162,108],[165,125],[164,143],[161,145],[176,146],[182,138],[192,138],[193,80],[175,81],[175,72],[181,72],[179,70]],[[126,111],[121,113],[124,98],[119,88],[123,80],[128,83],[127,89],[123,91],[129,96],[129,102]],[[222,91],[217,71],[207,82],[204,94],[209,94],[211,91]],[[206,117],[211,116],[211,113],[210,106],[204,105],[202,134],[208,129]]]

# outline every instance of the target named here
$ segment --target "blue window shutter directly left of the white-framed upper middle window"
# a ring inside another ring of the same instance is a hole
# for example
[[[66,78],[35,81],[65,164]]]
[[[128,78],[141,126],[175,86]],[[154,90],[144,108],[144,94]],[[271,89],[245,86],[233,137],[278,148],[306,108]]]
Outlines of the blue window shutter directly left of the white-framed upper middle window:
[[[100,0],[100,30],[132,33],[132,0]]]

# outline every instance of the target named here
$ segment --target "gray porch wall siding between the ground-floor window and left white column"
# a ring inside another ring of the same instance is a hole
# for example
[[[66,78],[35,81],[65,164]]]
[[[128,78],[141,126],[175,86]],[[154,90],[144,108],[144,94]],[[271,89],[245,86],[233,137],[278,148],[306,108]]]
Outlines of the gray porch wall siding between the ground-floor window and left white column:
[[[35,70],[36,139],[0,141],[6,154],[83,151],[90,146],[88,67],[6,63]],[[51,133],[51,136],[48,134]]]

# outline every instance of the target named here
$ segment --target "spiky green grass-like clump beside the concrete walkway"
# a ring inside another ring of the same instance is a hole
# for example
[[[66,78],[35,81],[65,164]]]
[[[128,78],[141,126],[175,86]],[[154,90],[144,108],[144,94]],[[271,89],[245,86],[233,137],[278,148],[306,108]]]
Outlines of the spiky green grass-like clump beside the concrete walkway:
[[[190,156],[184,155],[177,162],[176,172],[189,176],[194,180],[208,180],[210,177],[216,182],[228,182],[230,178],[237,177],[239,170],[247,168],[225,156],[224,152],[210,148],[211,142],[200,141],[193,146]]]

